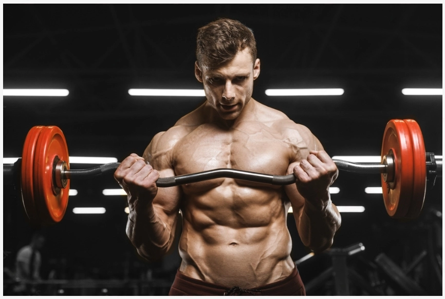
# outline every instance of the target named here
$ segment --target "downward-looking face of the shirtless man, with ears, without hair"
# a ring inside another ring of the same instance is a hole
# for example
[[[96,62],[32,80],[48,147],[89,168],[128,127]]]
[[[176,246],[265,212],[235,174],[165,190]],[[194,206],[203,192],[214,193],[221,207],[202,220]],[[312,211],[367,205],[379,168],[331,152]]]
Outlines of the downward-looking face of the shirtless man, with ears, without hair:
[[[204,85],[207,101],[222,119],[235,119],[249,103],[253,81],[259,75],[259,59],[252,64],[248,48],[216,68],[195,63],[195,76]]]

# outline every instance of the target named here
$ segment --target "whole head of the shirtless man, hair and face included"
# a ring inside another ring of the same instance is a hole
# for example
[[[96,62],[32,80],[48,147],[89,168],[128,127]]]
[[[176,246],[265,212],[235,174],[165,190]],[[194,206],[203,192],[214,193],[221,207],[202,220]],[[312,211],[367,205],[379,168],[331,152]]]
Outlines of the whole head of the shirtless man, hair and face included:
[[[218,19],[198,30],[195,76],[208,104],[222,119],[237,118],[249,103],[259,59],[252,31],[231,19]]]

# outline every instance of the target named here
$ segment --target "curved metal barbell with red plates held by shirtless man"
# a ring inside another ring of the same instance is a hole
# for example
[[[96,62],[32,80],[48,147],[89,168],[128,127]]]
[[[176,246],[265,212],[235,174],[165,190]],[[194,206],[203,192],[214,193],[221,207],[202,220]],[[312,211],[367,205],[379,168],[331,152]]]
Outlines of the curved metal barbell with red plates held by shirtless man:
[[[333,160],[339,170],[381,174],[383,201],[393,218],[416,218],[423,207],[427,180],[442,176],[442,158],[425,152],[419,125],[413,119],[392,119],[387,123],[381,150],[381,163],[359,164]],[[3,166],[5,177],[20,178],[15,186],[21,190],[28,218],[39,224],[62,220],[67,205],[71,179],[85,178],[114,171],[119,163],[89,169],[70,169],[65,136],[55,126],[35,126],[26,136],[22,158]],[[295,183],[293,174],[270,175],[222,168],[173,177],[160,177],[158,187],[172,187],[213,178],[234,178],[272,185]]]

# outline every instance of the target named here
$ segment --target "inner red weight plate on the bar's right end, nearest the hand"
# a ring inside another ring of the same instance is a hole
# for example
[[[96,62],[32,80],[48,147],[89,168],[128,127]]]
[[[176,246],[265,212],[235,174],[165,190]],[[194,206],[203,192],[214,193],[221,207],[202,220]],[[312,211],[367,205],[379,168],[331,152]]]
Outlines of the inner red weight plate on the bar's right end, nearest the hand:
[[[393,218],[403,218],[411,205],[413,196],[413,151],[411,133],[402,119],[392,119],[386,124],[383,134],[382,157],[394,152],[394,183],[388,184],[381,175],[383,201],[386,212]]]

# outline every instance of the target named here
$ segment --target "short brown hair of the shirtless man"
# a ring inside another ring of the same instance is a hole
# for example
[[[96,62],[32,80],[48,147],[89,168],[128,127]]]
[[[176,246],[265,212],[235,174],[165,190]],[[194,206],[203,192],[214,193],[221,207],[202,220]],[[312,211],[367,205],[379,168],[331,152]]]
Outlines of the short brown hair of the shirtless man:
[[[230,61],[238,51],[250,49],[256,59],[256,42],[250,28],[239,21],[219,18],[198,29],[196,59],[198,65],[217,66]]]

